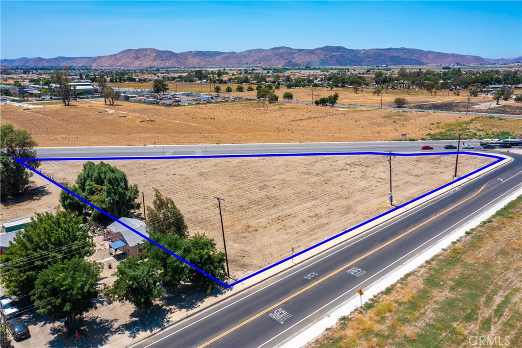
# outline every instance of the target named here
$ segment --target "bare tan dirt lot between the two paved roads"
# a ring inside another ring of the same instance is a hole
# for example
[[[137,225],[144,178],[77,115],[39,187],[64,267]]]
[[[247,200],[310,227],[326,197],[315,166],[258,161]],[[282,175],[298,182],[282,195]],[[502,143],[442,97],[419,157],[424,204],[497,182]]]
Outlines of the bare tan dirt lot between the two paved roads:
[[[461,156],[460,174],[490,162]],[[450,181],[454,156],[395,157],[395,204]],[[129,182],[145,193],[153,188],[174,199],[189,231],[215,238],[222,248],[217,201],[222,204],[230,268],[234,276],[251,273],[296,251],[385,212],[388,163],[381,156],[315,156],[241,159],[109,161],[125,171]],[[58,182],[75,181],[78,161],[44,162],[40,169]],[[58,204],[51,190],[44,206],[2,207],[6,216],[23,217]],[[18,215],[15,216],[18,212]]]

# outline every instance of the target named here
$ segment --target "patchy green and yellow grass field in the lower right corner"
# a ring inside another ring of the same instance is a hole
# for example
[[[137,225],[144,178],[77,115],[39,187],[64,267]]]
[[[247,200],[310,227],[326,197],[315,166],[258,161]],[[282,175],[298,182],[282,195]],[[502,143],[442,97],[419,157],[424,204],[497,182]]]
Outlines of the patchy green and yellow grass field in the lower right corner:
[[[309,347],[520,347],[521,218],[522,196]]]

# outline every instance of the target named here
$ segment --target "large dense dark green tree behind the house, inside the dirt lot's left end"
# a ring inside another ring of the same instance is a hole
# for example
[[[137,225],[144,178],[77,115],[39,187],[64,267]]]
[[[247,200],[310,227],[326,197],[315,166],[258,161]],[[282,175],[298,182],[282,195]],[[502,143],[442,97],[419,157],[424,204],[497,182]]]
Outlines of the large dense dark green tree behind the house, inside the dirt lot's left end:
[[[99,164],[87,161],[76,179],[76,185],[70,187],[70,190],[116,218],[141,206],[136,202],[139,195],[137,185],[129,185],[123,171],[103,161]],[[60,194],[62,206],[69,212],[81,214],[82,205],[68,196],[70,194],[67,192]],[[100,221],[103,214],[94,211],[92,218]]]

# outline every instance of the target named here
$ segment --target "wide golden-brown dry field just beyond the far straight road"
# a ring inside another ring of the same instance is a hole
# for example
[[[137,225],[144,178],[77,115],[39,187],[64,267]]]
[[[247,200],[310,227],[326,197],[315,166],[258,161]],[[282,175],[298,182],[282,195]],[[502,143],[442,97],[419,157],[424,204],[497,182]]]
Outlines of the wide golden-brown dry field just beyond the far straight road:
[[[256,101],[162,107],[81,100],[61,105],[0,106],[1,123],[29,131],[41,147],[394,141],[419,139],[473,117]],[[150,120],[152,122],[144,122]],[[485,119],[492,131],[519,134],[520,120]],[[468,125],[472,127],[472,125]]]

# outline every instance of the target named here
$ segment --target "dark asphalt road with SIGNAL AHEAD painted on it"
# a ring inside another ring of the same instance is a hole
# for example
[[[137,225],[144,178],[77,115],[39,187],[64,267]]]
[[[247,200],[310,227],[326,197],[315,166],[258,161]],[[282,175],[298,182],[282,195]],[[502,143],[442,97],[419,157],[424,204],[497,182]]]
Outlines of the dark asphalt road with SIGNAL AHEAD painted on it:
[[[137,346],[277,346],[507,194],[521,192],[522,156],[514,158]]]

